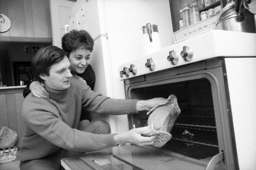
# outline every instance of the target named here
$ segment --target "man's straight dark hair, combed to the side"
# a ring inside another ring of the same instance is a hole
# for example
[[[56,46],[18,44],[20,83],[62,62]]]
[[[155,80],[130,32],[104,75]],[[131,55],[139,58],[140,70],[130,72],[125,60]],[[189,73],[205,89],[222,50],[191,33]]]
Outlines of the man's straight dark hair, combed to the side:
[[[50,68],[53,64],[59,63],[66,56],[66,52],[56,46],[47,46],[41,48],[31,61],[31,72],[40,82],[40,74],[50,75]]]

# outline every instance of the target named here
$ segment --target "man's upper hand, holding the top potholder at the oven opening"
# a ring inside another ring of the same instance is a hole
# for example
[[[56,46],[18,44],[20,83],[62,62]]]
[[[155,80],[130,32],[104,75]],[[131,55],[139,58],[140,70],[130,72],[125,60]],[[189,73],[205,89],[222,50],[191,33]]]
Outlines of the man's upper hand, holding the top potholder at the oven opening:
[[[165,98],[153,98],[153,99],[149,99],[149,100],[138,100],[136,109],[138,112],[143,111],[143,110],[149,111],[150,109],[155,107],[157,104],[166,102],[166,100],[167,99],[165,99]]]

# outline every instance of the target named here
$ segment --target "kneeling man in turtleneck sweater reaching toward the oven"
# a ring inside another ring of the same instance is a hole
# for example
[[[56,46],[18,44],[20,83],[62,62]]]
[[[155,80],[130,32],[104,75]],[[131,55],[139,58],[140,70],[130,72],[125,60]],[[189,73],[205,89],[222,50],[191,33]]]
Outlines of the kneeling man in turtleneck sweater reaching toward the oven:
[[[166,99],[111,99],[93,92],[85,82],[72,76],[66,53],[55,46],[37,52],[31,62],[31,71],[44,83],[49,98],[36,98],[30,93],[23,101],[25,133],[21,151],[17,153],[21,170],[58,170],[62,158],[81,152],[125,143],[153,144],[156,136],[141,135],[147,135],[149,129],[134,128],[121,134],[108,134],[110,128],[104,121],[78,129],[81,109],[109,115],[137,114],[164,103]]]

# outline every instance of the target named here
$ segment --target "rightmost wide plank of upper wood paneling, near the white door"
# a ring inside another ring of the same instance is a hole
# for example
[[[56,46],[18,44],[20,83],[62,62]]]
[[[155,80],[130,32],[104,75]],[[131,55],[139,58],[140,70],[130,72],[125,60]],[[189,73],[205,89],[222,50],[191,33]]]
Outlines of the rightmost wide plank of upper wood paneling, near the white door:
[[[48,14],[45,0],[31,1],[35,37],[48,37]]]

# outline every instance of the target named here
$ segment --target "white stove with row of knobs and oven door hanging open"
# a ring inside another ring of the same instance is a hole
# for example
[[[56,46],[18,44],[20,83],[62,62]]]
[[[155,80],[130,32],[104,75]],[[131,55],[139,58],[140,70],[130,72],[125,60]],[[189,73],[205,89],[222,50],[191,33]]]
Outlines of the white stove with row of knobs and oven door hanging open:
[[[255,45],[256,34],[211,30],[119,66],[127,99],[177,97],[181,119],[172,139],[161,148],[121,145],[64,158],[61,165],[66,170],[256,169]],[[146,112],[128,115],[129,129],[144,127],[147,119]]]

